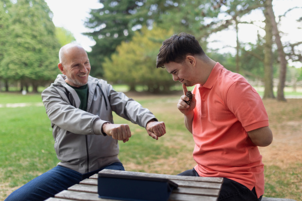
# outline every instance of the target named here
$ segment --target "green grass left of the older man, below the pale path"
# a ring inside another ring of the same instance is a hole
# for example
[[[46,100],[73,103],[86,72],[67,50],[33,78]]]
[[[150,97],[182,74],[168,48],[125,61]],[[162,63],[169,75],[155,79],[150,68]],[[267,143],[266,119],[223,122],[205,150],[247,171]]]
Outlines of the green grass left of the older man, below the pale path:
[[[50,121],[44,107],[0,108],[1,182],[14,187],[55,166]]]

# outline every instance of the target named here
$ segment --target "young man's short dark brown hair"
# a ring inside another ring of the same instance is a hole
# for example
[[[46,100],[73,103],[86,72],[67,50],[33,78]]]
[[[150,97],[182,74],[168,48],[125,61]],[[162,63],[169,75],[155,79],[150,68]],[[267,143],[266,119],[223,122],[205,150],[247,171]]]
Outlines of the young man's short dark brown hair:
[[[202,56],[205,53],[193,35],[187,33],[173,35],[163,42],[157,56],[156,67],[164,67],[164,64],[169,62],[181,63],[188,54]]]

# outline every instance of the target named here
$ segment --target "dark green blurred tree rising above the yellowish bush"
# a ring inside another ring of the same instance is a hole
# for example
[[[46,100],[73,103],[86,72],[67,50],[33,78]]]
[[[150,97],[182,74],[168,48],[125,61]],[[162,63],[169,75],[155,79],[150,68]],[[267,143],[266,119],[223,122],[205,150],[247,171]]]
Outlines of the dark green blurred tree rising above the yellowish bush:
[[[177,33],[185,30],[195,35],[206,50],[207,37],[213,32],[228,28],[234,22],[234,19],[225,20],[221,15],[230,13],[240,17],[256,8],[253,1],[249,1],[250,5],[246,3],[247,0],[241,2],[234,4],[230,1],[214,0],[101,0],[100,3],[104,7],[92,10],[92,17],[86,23],[86,26],[92,29],[92,32],[86,35],[96,41],[92,52],[89,53],[93,66],[92,75],[102,76],[102,62],[105,57],[110,57],[122,41],[131,40],[134,31],[140,30],[142,26],[152,28],[153,23],[162,29],[173,27]],[[223,8],[220,9],[221,7]],[[228,10],[225,11],[225,8]],[[236,8],[239,9],[233,14]],[[221,12],[223,14],[220,15]]]

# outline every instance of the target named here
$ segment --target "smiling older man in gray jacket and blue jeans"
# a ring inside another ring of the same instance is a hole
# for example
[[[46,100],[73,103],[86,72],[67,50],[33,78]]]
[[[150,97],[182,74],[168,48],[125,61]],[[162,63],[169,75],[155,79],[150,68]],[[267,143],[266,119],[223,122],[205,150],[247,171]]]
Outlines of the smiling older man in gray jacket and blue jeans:
[[[89,76],[89,58],[81,46],[63,46],[59,60],[62,74],[42,92],[42,100],[60,162],[6,200],[45,200],[102,169],[124,170],[117,142],[127,142],[131,132],[127,124],[113,123],[112,111],[144,127],[156,140],[166,133],[164,122],[150,111],[105,80]]]

